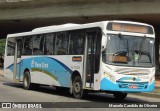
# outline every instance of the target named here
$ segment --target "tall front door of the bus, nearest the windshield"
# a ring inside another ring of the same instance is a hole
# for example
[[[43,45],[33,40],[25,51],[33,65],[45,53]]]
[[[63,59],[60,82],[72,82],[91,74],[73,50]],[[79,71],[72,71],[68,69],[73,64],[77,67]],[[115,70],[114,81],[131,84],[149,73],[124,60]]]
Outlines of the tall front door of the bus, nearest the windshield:
[[[87,32],[87,50],[86,50],[86,77],[85,87],[94,88],[95,75],[98,75],[100,66],[101,49],[101,30]],[[96,76],[97,77],[97,76]]]

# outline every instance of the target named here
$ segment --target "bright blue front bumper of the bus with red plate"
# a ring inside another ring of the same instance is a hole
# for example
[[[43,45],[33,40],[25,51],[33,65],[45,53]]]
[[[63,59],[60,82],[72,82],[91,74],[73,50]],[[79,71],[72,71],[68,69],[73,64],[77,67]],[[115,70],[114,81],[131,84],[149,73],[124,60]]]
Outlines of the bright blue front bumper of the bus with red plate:
[[[154,90],[155,82],[112,82],[107,78],[103,78],[100,83],[100,90],[103,91],[120,91],[127,93],[138,93],[138,92],[151,92]],[[130,88],[129,86],[137,86],[137,88]]]

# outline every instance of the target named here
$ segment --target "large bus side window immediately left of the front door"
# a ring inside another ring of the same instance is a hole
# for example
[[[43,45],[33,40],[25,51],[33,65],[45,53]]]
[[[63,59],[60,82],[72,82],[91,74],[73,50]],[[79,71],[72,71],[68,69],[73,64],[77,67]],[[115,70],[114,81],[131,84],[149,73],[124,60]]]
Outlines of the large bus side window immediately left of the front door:
[[[73,31],[70,36],[69,54],[83,55],[84,53],[84,31]]]

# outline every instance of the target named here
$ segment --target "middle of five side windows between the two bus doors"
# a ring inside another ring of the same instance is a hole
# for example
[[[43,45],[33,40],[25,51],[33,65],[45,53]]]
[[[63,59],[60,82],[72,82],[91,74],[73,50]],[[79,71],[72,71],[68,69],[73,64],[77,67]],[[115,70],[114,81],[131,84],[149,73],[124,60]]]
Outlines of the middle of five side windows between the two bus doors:
[[[45,55],[54,55],[54,46],[55,46],[55,36],[54,34],[45,34],[45,43],[44,43],[44,54]]]

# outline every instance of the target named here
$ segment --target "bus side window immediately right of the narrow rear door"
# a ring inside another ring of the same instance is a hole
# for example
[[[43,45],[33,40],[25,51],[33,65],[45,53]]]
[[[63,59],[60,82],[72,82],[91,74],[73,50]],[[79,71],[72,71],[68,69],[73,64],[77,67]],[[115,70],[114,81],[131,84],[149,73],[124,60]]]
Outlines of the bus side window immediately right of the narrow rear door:
[[[22,55],[32,55],[32,37],[24,37]]]

